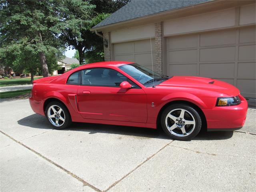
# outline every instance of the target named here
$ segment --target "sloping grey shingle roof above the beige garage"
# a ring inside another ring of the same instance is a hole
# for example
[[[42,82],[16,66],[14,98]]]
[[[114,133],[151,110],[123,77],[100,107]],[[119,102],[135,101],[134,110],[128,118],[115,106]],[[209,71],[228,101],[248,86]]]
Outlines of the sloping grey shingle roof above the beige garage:
[[[130,3],[111,14],[108,18],[104,19],[93,28],[145,17],[160,12],[176,10],[209,1],[212,0],[132,0]]]

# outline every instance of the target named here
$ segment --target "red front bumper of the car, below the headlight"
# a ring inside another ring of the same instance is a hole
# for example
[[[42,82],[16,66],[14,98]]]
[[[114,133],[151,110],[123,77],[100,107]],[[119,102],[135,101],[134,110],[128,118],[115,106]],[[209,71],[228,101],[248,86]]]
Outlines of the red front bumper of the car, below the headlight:
[[[235,106],[221,106],[213,109],[204,109],[208,131],[238,130],[244,126],[248,104],[246,99],[239,95],[241,103]]]

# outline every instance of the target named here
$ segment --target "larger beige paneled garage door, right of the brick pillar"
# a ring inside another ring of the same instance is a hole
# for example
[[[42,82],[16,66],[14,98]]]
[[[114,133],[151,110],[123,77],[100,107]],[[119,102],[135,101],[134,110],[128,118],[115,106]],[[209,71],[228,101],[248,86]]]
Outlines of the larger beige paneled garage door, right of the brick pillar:
[[[255,26],[166,39],[167,74],[226,81],[256,98]]]

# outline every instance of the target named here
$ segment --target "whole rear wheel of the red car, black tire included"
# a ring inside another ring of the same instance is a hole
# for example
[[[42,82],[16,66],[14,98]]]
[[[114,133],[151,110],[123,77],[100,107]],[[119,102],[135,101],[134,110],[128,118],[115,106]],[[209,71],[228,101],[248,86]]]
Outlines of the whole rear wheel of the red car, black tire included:
[[[45,116],[54,129],[65,129],[71,124],[68,109],[60,102],[50,102],[45,109]]]

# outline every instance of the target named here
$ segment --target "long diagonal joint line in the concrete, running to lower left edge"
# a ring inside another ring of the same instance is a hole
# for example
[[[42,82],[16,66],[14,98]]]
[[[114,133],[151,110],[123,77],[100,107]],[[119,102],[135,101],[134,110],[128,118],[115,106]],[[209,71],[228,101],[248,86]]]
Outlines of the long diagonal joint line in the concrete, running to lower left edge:
[[[93,185],[89,184],[88,182],[86,182],[85,180],[83,180],[82,178],[78,177],[77,175],[73,174],[72,172],[70,172],[69,170],[65,169],[64,167],[56,164],[55,162],[53,162],[52,160],[48,159],[47,157],[43,156],[42,154],[36,152],[35,150],[33,150],[32,148],[26,146],[25,144],[23,144],[22,142],[12,138],[11,136],[9,136],[8,134],[2,132],[0,130],[0,132],[2,134],[4,134],[5,136],[9,137],[10,139],[14,140],[16,143],[24,146],[25,148],[27,148],[28,150],[34,152],[35,154],[37,154],[38,156],[44,158],[45,160],[47,160],[48,162],[50,162],[51,164],[54,164],[55,166],[57,166],[58,168],[60,168],[61,170],[63,170],[64,172],[66,172],[67,174],[71,175],[72,177],[76,178],[77,180],[79,180],[80,182],[82,182],[84,184],[84,186],[89,186],[90,188],[92,188],[93,190],[97,191],[97,192],[102,192],[101,190],[99,190],[98,188],[94,187]],[[48,132],[48,131],[47,131]]]

